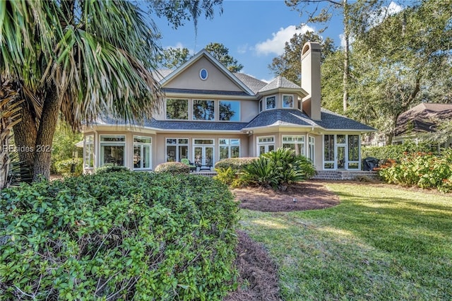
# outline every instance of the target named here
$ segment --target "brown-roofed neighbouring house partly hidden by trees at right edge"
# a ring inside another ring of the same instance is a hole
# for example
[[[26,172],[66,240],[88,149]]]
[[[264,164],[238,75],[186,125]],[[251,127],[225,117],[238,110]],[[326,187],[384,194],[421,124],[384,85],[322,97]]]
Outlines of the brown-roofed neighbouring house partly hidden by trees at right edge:
[[[416,141],[421,134],[434,132],[439,122],[452,121],[452,104],[421,103],[403,112],[397,119],[393,143],[405,140]],[[452,143],[452,134],[439,147],[447,147]]]

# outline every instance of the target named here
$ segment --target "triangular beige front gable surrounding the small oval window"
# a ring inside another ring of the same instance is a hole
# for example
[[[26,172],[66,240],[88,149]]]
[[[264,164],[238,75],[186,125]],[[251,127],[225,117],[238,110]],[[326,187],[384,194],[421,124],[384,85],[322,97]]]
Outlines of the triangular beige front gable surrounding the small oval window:
[[[208,77],[201,79],[200,72],[206,69]],[[225,66],[215,59],[206,49],[179,66],[160,81],[162,88],[183,90],[209,90],[256,95]]]

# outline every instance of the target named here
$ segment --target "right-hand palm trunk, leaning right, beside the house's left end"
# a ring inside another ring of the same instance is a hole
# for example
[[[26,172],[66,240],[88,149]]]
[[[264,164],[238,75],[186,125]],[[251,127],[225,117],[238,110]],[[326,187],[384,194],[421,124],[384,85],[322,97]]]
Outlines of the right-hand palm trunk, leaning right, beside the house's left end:
[[[52,141],[57,127],[58,113],[61,107],[61,100],[52,89],[47,99],[44,101],[40,126],[37,129],[35,143],[35,161],[33,164],[33,181],[40,177],[50,178],[50,164],[52,159]]]

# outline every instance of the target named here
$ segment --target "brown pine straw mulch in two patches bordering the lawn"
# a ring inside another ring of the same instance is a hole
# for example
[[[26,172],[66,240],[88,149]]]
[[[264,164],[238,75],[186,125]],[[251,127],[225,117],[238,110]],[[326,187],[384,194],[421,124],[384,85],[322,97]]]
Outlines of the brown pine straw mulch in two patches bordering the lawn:
[[[335,206],[339,198],[322,182],[302,182],[286,191],[246,187],[232,190],[239,207],[254,211],[303,211]],[[295,199],[295,201],[294,201]],[[239,288],[225,301],[281,300],[278,269],[262,244],[258,244],[241,230],[237,230],[239,244],[235,265],[239,270]]]

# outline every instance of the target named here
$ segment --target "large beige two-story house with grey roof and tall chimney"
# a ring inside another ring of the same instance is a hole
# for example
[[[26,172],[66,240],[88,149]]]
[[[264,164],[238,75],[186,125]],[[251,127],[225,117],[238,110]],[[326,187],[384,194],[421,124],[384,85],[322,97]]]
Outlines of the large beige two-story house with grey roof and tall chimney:
[[[141,126],[99,119],[83,129],[84,168],[153,170],[188,158],[213,166],[279,147],[305,155],[316,170],[361,170],[361,135],[375,129],[321,108],[318,43],[302,51],[302,86],[231,73],[206,50],[160,73],[165,104]]]

